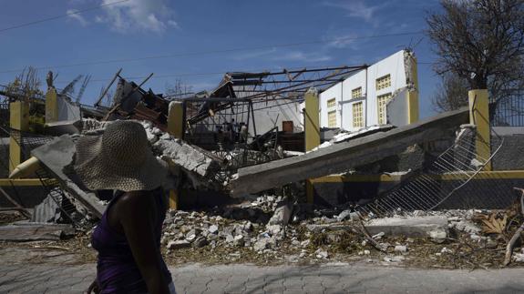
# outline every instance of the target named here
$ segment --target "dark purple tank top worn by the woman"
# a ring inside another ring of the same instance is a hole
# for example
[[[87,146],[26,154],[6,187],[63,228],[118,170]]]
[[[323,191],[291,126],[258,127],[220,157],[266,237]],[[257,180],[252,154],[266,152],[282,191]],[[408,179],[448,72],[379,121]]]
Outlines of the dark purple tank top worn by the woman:
[[[159,211],[164,212],[167,204],[162,189],[158,188],[149,193],[157,201]],[[98,251],[98,285],[100,285],[100,293],[147,293],[148,287],[142,279],[126,236],[110,228],[108,224],[108,210],[123,194],[121,191],[115,193],[91,238],[91,245]],[[165,214],[160,213],[155,219],[155,241],[159,248],[165,218]],[[170,270],[160,255],[159,259],[166,281],[170,283],[172,281]]]

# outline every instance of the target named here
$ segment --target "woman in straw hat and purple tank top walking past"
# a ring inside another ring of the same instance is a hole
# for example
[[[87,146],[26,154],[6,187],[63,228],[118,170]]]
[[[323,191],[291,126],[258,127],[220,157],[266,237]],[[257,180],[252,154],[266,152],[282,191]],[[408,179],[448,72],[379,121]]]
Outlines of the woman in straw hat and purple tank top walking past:
[[[160,254],[168,171],[148,144],[144,127],[131,121],[77,141],[75,170],[86,187],[116,191],[93,232],[98,264],[89,293],[175,293]]]

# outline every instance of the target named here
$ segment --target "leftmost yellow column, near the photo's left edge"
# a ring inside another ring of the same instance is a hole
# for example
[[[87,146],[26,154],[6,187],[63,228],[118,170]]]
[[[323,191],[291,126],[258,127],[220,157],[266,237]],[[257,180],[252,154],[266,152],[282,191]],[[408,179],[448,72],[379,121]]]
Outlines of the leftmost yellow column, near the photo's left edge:
[[[29,103],[15,101],[9,104],[10,127],[14,130],[26,132],[29,129]],[[9,173],[13,172],[23,161],[21,136],[19,132],[12,132],[9,138]]]

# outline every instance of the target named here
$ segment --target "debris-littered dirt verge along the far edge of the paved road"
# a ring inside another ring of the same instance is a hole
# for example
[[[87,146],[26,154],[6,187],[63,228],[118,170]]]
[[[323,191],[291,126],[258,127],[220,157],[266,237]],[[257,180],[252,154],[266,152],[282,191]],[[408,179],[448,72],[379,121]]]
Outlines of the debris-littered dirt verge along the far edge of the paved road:
[[[406,244],[405,253],[394,252],[394,246],[387,252],[380,252],[371,245],[362,246],[360,239],[342,234],[336,242],[330,242],[322,234],[311,239],[310,245],[302,248],[293,246],[285,238],[278,249],[257,253],[251,248],[182,248],[163,249],[162,254],[169,265],[200,263],[207,265],[252,263],[255,265],[312,265],[330,262],[365,262],[369,264],[398,266],[412,269],[498,269],[504,259],[505,243],[497,245],[470,242],[466,236],[449,238],[438,244],[426,238],[385,238],[389,244]],[[345,239],[344,239],[345,238]],[[61,241],[3,242],[0,243],[0,259],[8,263],[30,264],[87,264],[95,263],[96,251],[90,247],[89,233],[77,234],[74,238]],[[328,252],[328,258],[317,258],[318,248]],[[520,251],[516,248],[515,251]],[[363,253],[365,252],[365,253]],[[301,255],[303,253],[303,255]],[[398,258],[401,257],[401,258]],[[393,259],[393,260],[391,260]],[[509,267],[522,264],[512,262]]]

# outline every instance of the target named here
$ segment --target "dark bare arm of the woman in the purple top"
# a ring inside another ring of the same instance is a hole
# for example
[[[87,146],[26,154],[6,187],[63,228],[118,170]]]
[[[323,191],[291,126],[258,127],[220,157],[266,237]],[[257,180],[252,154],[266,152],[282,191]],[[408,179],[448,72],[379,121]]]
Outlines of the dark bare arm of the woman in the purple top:
[[[133,257],[151,294],[170,293],[161,268],[159,248],[155,242],[156,209],[150,195],[128,192],[118,201],[118,218],[124,229]]]

